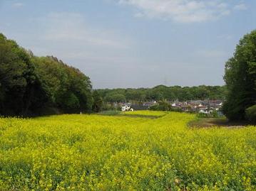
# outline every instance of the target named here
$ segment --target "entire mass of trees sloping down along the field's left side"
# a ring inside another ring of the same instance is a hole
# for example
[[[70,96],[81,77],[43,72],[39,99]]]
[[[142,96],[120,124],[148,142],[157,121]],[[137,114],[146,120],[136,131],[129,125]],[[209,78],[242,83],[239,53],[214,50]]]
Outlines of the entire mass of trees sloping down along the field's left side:
[[[91,81],[53,56],[36,57],[0,33],[0,114],[91,111]]]

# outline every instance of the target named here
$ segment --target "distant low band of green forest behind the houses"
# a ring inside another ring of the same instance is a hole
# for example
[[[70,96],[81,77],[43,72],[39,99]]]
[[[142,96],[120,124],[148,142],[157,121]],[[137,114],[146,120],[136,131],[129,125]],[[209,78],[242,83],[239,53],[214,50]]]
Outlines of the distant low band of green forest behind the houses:
[[[105,102],[148,102],[168,100],[180,102],[188,100],[204,99],[225,99],[225,86],[205,86],[198,87],[166,87],[158,85],[153,88],[138,89],[97,89],[98,94]]]

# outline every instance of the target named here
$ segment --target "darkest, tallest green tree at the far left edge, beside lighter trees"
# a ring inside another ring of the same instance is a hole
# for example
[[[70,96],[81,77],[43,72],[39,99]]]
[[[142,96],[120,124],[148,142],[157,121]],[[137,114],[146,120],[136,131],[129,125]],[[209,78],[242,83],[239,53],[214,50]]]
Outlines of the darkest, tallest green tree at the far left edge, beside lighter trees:
[[[0,34],[0,114],[27,115],[46,99],[29,53]]]

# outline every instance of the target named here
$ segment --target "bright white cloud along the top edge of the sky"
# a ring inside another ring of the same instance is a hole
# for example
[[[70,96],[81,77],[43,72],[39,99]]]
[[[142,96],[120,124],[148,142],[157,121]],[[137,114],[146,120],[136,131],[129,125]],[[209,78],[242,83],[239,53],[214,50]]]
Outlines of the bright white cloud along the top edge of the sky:
[[[119,4],[135,6],[135,16],[161,18],[178,23],[196,23],[212,21],[230,14],[235,7],[242,9],[242,4],[232,7],[227,0],[119,0]]]

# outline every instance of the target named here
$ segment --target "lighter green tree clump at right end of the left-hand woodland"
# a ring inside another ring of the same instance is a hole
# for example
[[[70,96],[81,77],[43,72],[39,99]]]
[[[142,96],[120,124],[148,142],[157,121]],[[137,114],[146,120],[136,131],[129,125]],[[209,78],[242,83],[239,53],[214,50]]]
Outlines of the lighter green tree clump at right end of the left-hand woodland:
[[[34,58],[36,71],[50,104],[66,113],[91,111],[91,81],[75,67],[53,56]]]

